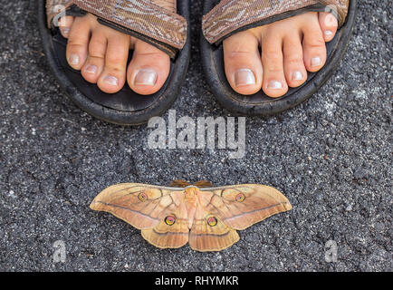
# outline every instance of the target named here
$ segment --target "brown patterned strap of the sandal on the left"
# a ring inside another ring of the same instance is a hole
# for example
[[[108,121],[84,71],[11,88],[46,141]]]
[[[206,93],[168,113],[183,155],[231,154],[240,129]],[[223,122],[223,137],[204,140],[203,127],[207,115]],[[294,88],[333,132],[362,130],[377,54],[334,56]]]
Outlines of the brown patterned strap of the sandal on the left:
[[[154,44],[171,57],[187,41],[187,20],[152,0],[47,0],[48,27],[74,5],[96,15],[101,24]]]

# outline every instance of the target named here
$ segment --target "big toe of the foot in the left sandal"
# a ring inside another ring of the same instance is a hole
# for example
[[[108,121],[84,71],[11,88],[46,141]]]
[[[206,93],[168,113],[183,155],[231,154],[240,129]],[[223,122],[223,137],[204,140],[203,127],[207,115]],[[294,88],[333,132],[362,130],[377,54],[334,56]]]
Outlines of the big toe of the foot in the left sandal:
[[[127,70],[129,87],[142,95],[158,92],[169,75],[169,55],[139,39],[134,39],[133,48],[134,53]]]

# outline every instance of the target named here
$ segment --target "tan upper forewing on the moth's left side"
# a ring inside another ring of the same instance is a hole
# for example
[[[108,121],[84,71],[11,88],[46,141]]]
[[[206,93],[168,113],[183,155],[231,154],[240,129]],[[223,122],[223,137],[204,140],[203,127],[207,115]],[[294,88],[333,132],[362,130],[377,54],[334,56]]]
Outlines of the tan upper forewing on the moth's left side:
[[[174,198],[183,189],[139,183],[121,183],[101,191],[91,202],[93,210],[106,211],[138,229],[156,227],[163,218],[179,207]]]

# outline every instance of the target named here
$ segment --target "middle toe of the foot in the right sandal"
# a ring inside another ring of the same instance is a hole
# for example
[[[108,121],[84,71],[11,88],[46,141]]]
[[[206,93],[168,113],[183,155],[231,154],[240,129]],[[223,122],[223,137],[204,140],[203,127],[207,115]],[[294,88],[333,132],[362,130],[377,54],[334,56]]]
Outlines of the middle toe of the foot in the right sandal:
[[[286,82],[292,88],[307,80],[300,35],[290,34],[283,40],[283,70]]]

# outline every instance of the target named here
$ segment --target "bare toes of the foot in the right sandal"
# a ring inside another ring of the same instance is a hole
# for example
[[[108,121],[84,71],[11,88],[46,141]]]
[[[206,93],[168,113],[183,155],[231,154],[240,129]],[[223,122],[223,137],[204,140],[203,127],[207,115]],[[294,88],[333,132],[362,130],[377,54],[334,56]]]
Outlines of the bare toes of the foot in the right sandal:
[[[259,92],[277,98],[318,72],[326,62],[326,44],[338,21],[309,12],[234,34],[224,41],[225,73],[235,92]],[[262,57],[259,50],[261,47]]]

